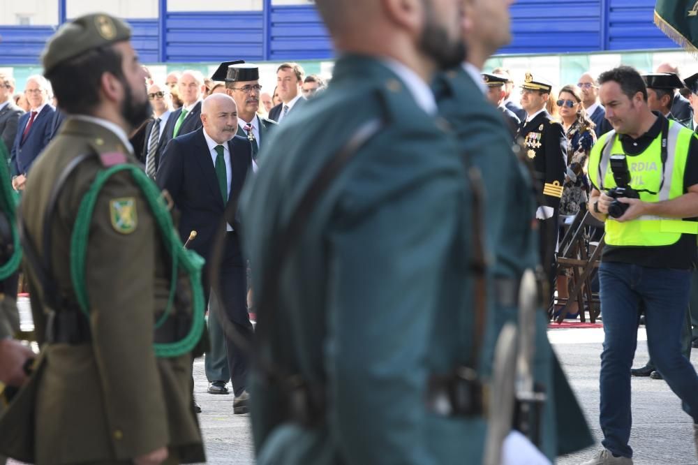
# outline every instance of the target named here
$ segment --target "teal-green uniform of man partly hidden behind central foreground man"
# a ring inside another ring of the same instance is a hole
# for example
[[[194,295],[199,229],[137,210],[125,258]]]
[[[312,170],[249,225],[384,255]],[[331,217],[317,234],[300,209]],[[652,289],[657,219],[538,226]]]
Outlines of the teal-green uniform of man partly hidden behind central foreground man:
[[[493,258],[490,318],[482,360],[482,371],[489,374],[501,328],[518,319],[517,282],[527,268],[535,269],[539,263],[538,238],[532,228],[537,202],[530,172],[512,152],[502,115],[486,101],[473,78],[459,67],[441,75],[435,88],[440,114],[454,126],[461,149],[471,154],[482,172],[485,237],[490,239],[487,246]],[[541,309],[536,327],[535,378],[544,386],[548,400],[540,448],[554,460],[557,455],[586,448],[593,439],[546,330],[547,316]]]

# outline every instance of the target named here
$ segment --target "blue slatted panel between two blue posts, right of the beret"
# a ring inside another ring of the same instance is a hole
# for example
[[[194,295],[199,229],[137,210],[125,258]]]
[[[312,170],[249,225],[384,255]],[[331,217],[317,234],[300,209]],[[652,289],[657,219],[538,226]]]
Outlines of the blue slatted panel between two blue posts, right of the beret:
[[[168,13],[166,61],[262,61],[261,11]]]

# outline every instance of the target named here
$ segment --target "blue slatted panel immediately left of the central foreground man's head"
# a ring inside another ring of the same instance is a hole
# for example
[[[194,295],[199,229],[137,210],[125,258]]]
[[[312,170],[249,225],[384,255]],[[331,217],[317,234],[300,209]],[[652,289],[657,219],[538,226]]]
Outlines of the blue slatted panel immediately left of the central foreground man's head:
[[[334,57],[325,25],[313,6],[272,6],[270,61]]]

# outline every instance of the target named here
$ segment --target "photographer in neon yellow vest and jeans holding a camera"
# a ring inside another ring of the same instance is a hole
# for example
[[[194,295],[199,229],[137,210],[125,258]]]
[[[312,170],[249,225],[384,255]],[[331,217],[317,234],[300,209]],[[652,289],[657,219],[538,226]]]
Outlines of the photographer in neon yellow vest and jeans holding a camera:
[[[698,420],[698,376],[679,344],[697,258],[698,138],[651,112],[645,83],[633,68],[602,73],[599,82],[614,128],[593,147],[588,165],[589,211],[606,226],[599,270],[604,450],[585,464],[631,464],[630,366],[640,304],[650,356]]]

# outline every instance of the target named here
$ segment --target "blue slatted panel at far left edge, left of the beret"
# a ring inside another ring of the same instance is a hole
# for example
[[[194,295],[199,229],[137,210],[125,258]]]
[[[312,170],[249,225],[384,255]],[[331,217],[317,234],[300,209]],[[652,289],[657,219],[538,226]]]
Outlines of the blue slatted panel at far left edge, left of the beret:
[[[52,26],[0,26],[0,64],[38,64],[54,30]]]

